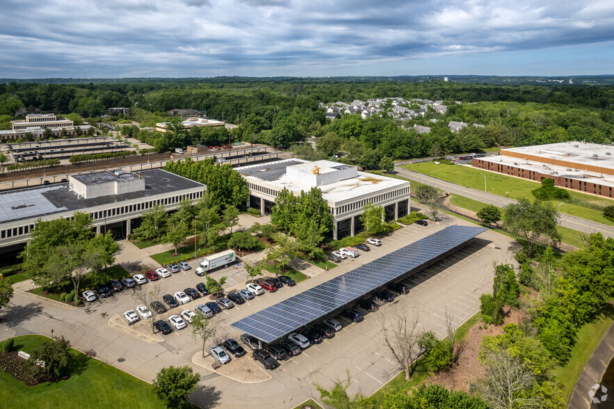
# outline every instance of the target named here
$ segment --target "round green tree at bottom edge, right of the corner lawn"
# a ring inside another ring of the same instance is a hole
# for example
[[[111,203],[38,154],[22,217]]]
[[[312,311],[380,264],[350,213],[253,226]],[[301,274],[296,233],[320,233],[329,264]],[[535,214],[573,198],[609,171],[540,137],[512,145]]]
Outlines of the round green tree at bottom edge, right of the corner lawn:
[[[154,379],[154,394],[168,408],[181,408],[188,401],[189,394],[196,389],[199,380],[200,374],[195,374],[189,365],[162,368]]]

